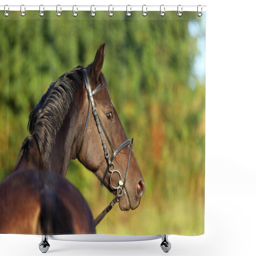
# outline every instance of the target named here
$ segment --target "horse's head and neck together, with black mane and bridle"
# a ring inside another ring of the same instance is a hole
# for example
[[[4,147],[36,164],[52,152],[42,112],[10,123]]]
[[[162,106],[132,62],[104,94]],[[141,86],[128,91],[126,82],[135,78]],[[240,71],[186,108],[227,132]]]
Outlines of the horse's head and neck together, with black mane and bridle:
[[[101,71],[104,47],[86,68],[77,66],[50,85],[29,115],[28,130],[45,170],[65,177],[77,158],[115,195],[114,203],[119,200],[119,208],[128,211],[139,206],[145,182]]]

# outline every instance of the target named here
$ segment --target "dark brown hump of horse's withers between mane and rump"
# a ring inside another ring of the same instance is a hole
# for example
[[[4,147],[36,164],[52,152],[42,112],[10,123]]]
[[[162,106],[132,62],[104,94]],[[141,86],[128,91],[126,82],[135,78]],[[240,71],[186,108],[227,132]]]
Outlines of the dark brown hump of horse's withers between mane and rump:
[[[14,170],[20,169],[44,170],[42,157],[33,136],[28,136],[20,149]]]

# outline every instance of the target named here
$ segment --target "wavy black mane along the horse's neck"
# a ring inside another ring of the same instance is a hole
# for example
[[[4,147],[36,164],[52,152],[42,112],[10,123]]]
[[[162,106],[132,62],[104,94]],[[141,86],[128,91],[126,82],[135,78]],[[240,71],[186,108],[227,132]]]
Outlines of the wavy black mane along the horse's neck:
[[[57,132],[68,114],[74,90],[83,85],[83,67],[78,66],[52,83],[29,115],[28,129],[36,139],[44,167],[49,168],[50,153]]]

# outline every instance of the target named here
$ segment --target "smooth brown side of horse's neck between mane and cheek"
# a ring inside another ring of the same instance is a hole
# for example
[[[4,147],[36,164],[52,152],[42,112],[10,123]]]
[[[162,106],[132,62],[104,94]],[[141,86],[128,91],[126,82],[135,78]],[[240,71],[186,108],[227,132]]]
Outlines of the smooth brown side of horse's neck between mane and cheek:
[[[72,102],[60,130],[56,134],[50,155],[49,170],[62,176],[66,176],[70,161],[76,159],[77,133],[81,130],[81,127],[78,127],[79,122],[77,122],[80,111],[78,105],[79,102],[75,100]]]

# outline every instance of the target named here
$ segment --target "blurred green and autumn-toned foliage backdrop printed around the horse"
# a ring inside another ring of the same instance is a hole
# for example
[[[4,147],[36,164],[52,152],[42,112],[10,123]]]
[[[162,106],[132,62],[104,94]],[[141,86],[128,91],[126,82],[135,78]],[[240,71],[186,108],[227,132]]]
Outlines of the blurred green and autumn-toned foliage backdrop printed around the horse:
[[[1,11],[0,22],[0,181],[13,173],[29,114],[50,84],[92,63],[104,42],[102,72],[126,136],[134,138],[145,193],[134,210],[116,204],[96,234],[204,234],[206,13]],[[94,218],[113,199],[77,159],[65,179]]]

